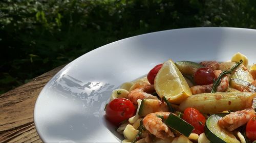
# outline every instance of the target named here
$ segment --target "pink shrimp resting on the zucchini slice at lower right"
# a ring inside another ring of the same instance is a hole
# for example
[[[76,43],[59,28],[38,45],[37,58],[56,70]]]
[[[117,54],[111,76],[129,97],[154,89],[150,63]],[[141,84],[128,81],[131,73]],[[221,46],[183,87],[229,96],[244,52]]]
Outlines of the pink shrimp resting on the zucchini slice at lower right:
[[[228,129],[229,131],[233,131],[234,129],[246,124],[254,115],[255,111],[253,108],[231,112],[219,120],[218,125],[222,128]]]

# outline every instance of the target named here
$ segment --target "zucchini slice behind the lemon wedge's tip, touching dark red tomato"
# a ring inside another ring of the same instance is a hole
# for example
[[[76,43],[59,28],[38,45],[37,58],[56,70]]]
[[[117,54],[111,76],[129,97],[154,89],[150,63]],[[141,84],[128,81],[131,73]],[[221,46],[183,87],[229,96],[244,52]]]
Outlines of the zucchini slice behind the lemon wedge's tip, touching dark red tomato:
[[[204,67],[198,63],[191,62],[191,61],[178,61],[178,62],[175,62],[175,65],[178,67],[178,69],[182,74],[186,74],[190,76],[194,76],[194,74],[199,68]]]

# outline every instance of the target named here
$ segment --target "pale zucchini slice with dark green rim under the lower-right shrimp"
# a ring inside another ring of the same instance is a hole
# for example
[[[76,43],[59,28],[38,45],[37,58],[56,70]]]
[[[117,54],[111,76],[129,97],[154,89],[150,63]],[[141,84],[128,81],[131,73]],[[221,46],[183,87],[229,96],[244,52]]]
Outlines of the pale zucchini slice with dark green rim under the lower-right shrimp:
[[[205,122],[205,135],[210,142],[240,142],[231,132],[218,126],[223,115],[211,115]]]

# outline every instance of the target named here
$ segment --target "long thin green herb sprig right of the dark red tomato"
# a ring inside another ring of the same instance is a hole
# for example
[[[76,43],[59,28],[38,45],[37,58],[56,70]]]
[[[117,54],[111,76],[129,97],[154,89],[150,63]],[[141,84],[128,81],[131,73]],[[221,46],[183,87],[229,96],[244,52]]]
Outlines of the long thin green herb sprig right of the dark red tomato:
[[[234,65],[233,67],[231,67],[230,70],[226,70],[223,71],[219,77],[214,81],[214,85],[212,85],[212,89],[211,89],[211,93],[215,93],[217,91],[217,87],[219,86],[219,84],[221,83],[221,79],[223,76],[225,76],[226,74],[231,74],[235,69],[237,69],[241,64],[243,63],[243,60],[240,60],[240,62],[237,62],[236,65]]]

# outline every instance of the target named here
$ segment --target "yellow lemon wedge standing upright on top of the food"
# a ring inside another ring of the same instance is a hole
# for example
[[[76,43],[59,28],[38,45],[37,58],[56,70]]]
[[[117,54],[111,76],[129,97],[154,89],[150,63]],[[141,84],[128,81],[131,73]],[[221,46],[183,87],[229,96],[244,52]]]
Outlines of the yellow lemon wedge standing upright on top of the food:
[[[168,99],[170,103],[179,104],[192,95],[186,79],[172,60],[164,62],[154,83],[157,94]]]

